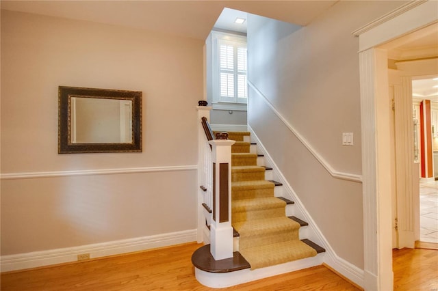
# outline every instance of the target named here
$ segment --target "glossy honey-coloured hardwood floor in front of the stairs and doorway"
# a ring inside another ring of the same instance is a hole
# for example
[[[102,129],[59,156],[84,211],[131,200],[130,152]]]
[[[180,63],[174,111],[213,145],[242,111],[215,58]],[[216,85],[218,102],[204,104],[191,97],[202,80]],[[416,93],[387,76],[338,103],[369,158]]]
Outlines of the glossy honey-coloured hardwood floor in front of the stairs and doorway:
[[[1,274],[1,290],[212,290],[194,277],[190,260],[201,245],[164,249]],[[438,251],[394,251],[395,290],[434,290]],[[425,289],[418,289],[419,286]],[[359,290],[325,266],[315,266],[221,290]],[[437,290],[437,289],[435,289]]]

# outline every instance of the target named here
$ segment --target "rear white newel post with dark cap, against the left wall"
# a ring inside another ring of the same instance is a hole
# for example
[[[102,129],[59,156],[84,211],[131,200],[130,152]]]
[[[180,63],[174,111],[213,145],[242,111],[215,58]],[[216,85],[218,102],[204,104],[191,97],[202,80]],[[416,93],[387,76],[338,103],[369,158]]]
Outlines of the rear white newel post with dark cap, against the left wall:
[[[209,181],[208,179],[208,174],[211,175],[211,171],[207,171],[206,169],[206,167],[209,167],[207,163],[211,163],[210,161],[208,161],[209,159],[211,159],[211,150],[209,149],[207,137],[205,137],[204,128],[202,126],[203,117],[207,118],[207,120],[210,120],[211,107],[207,106],[207,101],[201,100],[198,102],[196,110],[198,111],[198,203],[196,204],[196,209],[198,210],[197,240],[198,243],[208,243],[208,241],[206,242],[206,240],[209,240],[209,238],[204,237],[205,209],[203,209],[201,205],[205,203],[205,200],[208,200],[209,195],[207,193],[204,193],[200,186],[206,187],[208,192],[211,191],[209,186],[209,183],[211,181]],[[209,205],[208,202],[207,205]]]

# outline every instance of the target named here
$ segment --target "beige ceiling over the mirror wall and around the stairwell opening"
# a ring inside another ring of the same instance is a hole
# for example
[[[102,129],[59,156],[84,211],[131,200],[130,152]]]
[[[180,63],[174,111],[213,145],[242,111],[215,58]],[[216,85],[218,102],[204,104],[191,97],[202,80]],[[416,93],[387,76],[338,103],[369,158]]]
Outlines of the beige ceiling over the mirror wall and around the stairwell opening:
[[[88,20],[205,40],[224,8],[308,25],[324,1],[0,1],[1,9]]]

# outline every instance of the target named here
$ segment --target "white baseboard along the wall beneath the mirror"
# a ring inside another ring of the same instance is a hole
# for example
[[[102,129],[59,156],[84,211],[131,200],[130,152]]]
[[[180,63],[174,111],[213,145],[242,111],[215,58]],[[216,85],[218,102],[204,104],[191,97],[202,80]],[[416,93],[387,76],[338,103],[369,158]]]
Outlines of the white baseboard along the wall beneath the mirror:
[[[119,255],[133,251],[144,251],[157,247],[168,247],[181,243],[196,242],[196,230],[184,230],[144,236],[141,238],[129,238],[126,240],[114,240],[106,243],[68,247],[63,249],[51,249],[47,251],[34,251],[31,253],[18,253],[16,255],[2,255],[0,257],[1,272],[36,268],[52,264],[62,264],[77,261],[77,255],[89,253],[91,258],[101,258],[108,255]]]

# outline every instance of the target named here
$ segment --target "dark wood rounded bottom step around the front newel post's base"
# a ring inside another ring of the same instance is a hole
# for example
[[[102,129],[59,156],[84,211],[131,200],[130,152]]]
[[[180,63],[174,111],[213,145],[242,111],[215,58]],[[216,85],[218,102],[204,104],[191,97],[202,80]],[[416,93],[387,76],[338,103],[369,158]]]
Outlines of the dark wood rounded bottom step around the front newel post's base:
[[[192,264],[196,268],[209,273],[229,273],[251,267],[238,251],[233,253],[233,258],[214,260],[213,255],[210,253],[210,245],[205,245],[194,251]]]

